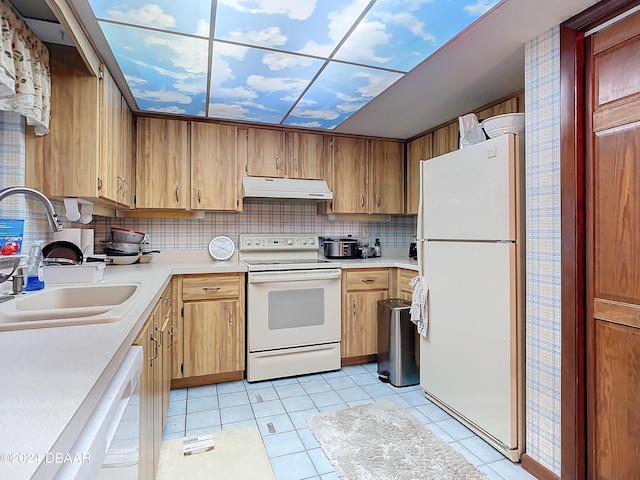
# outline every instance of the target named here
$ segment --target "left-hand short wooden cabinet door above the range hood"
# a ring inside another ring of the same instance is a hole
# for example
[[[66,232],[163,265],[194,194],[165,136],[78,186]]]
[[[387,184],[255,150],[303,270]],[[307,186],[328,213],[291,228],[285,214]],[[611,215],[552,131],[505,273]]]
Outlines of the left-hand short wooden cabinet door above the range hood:
[[[262,128],[249,129],[249,153],[246,172],[250,176],[284,177],[284,131]]]

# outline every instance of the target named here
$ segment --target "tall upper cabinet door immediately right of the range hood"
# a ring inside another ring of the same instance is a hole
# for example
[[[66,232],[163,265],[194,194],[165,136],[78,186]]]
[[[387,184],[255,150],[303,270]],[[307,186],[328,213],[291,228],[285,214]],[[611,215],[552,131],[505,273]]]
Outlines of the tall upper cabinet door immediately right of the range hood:
[[[332,141],[333,213],[367,213],[368,142],[334,137]]]

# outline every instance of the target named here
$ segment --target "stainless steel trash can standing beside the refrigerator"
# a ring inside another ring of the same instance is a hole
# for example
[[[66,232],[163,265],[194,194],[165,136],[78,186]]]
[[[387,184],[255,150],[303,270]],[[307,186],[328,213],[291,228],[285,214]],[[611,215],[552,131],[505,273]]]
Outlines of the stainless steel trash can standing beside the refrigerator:
[[[400,298],[378,300],[378,378],[395,387],[417,385],[416,326],[411,304]]]

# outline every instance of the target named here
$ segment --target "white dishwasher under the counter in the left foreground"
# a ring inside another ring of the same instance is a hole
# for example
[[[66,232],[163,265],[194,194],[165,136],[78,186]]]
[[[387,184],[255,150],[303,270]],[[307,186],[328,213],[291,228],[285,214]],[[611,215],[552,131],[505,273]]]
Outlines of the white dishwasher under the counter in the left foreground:
[[[142,347],[129,348],[104,392],[73,452],[88,462],[65,463],[60,480],[129,480],[138,478],[140,450],[140,374]]]

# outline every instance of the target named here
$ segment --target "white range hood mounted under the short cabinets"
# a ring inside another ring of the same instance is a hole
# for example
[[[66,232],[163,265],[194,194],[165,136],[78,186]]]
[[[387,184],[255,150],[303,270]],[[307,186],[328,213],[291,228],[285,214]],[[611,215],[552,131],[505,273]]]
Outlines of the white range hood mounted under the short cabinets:
[[[245,200],[295,200],[323,202],[333,199],[324,180],[242,177]]]

